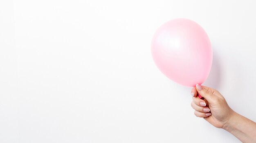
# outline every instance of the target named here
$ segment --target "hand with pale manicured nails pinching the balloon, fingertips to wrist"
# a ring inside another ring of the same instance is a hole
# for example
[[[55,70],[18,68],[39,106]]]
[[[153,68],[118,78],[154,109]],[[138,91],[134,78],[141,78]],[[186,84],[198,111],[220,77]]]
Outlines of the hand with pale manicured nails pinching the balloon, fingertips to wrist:
[[[203,117],[216,128],[223,128],[235,112],[229,107],[225,98],[215,89],[196,85],[191,90],[193,101],[191,106],[195,109],[197,117]],[[204,100],[197,95],[201,95]]]

